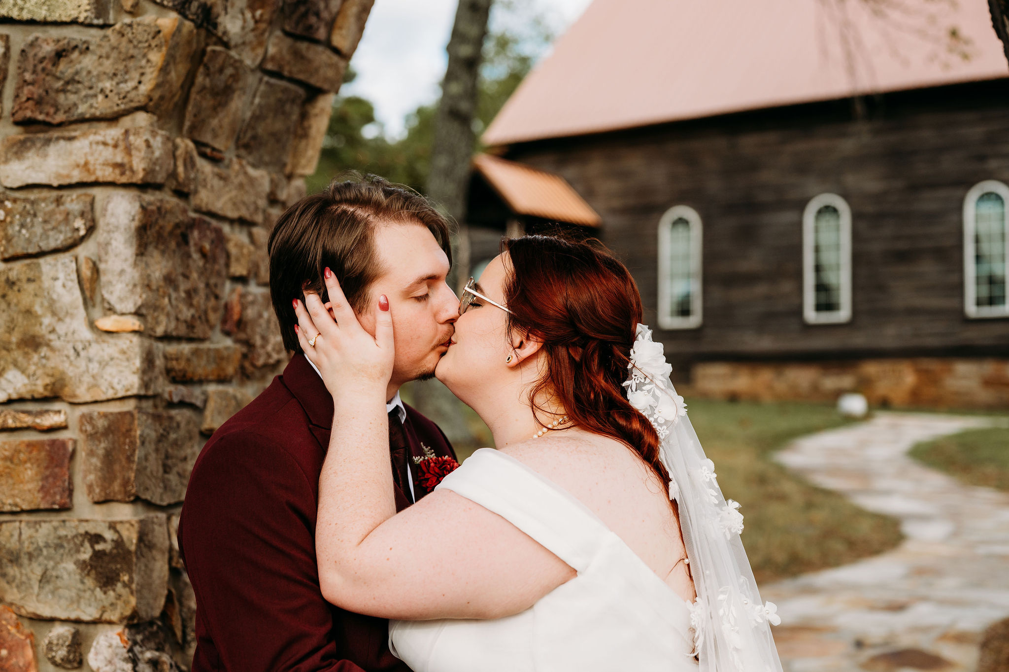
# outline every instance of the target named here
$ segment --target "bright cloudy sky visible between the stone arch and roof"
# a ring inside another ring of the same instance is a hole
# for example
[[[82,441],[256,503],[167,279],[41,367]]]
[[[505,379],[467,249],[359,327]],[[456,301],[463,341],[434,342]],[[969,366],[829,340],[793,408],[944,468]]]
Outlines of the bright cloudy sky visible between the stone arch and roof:
[[[529,0],[563,32],[590,0]],[[457,0],[375,0],[354,53],[357,79],[340,93],[370,100],[387,135],[403,132],[404,119],[438,96]]]

